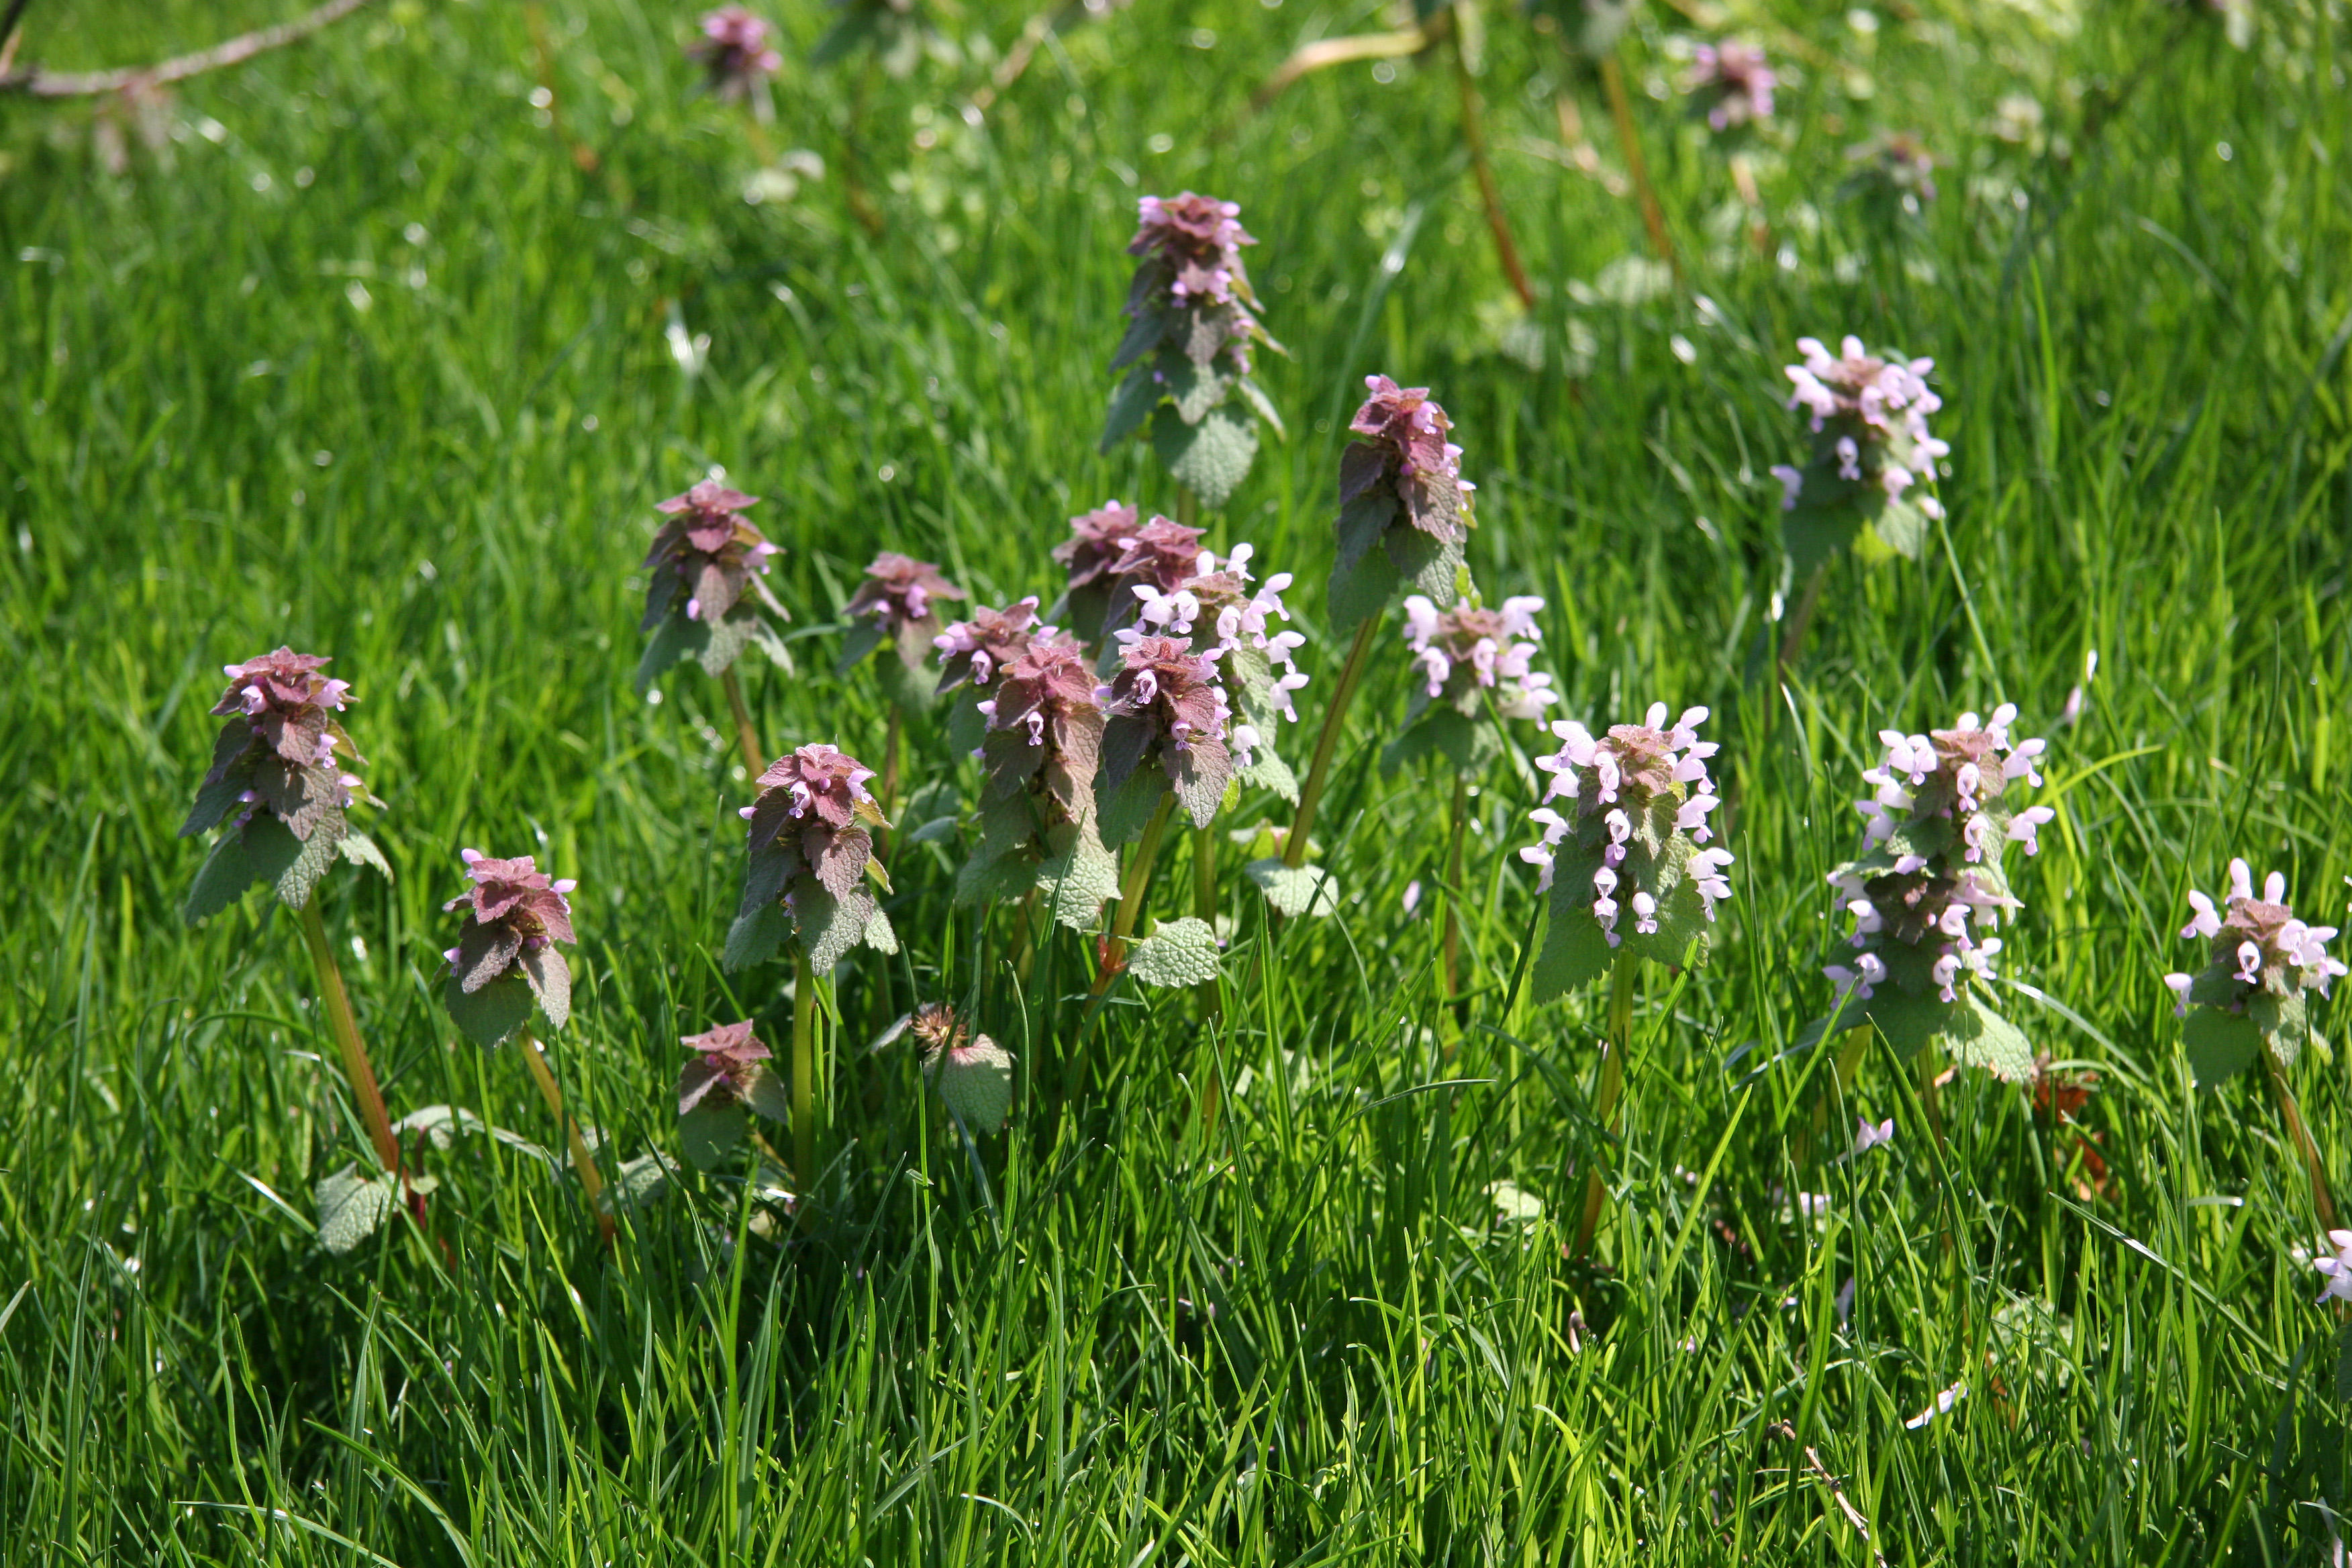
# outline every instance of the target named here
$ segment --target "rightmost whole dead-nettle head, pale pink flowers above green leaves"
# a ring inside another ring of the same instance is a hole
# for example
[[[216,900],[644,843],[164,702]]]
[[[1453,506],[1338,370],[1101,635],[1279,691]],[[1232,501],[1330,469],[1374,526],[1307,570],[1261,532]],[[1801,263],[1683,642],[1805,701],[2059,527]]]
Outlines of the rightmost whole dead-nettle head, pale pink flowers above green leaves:
[[[2305,1044],[2326,1044],[2310,1023],[2312,992],[2326,997],[2328,980],[2345,973],[2328,957],[2336,926],[2310,926],[2286,903],[2286,877],[2270,872],[2253,891],[2253,872],[2230,860],[2230,896],[2223,907],[2190,893],[2183,938],[2206,945],[2206,966],[2164,976],[2180,1013],[2180,1044],[2199,1084],[2218,1084],[2270,1051],[2279,1067],[2293,1067]]]

